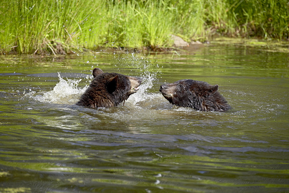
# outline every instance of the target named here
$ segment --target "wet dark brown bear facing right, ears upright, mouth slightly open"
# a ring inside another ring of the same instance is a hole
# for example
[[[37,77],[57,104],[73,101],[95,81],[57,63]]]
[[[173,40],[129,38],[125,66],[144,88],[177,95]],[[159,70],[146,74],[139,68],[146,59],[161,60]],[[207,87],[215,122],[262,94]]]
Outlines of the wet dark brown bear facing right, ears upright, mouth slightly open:
[[[100,68],[92,70],[94,79],[86,91],[80,96],[76,105],[91,108],[118,106],[131,94],[139,90],[141,78],[130,77],[118,73],[103,73]]]

